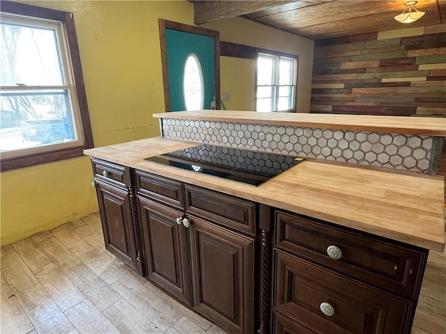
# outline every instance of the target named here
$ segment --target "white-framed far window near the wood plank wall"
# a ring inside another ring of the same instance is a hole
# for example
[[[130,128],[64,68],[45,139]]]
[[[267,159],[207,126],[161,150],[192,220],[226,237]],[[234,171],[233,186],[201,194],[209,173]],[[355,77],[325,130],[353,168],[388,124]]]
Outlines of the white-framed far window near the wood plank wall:
[[[256,111],[293,111],[296,77],[296,58],[259,53]]]

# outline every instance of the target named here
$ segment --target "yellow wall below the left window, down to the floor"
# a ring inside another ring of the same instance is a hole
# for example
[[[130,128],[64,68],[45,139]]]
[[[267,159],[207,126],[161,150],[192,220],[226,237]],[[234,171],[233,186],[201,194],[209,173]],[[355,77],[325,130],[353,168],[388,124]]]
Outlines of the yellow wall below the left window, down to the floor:
[[[1,173],[1,245],[98,211],[86,157]]]

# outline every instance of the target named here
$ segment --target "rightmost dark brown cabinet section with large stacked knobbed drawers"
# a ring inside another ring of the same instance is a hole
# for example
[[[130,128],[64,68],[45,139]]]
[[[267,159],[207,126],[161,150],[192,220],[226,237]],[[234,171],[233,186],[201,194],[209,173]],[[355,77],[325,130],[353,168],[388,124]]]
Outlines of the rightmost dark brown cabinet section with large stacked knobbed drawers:
[[[278,333],[410,333],[426,250],[280,210],[275,228]]]

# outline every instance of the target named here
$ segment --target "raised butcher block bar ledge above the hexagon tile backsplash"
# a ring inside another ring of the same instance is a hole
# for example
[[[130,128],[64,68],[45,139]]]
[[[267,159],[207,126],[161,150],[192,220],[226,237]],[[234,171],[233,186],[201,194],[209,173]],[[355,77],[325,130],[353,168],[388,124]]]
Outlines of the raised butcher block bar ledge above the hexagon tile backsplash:
[[[155,113],[157,118],[240,122],[290,127],[316,127],[394,134],[446,136],[446,118],[334,115],[323,113],[259,113],[256,111],[199,110]]]

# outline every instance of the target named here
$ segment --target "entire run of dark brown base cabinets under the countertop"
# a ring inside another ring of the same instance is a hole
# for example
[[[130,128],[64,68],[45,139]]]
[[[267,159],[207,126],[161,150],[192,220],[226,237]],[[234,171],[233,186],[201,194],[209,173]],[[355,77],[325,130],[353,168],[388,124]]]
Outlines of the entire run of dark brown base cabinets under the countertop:
[[[410,333],[428,250],[92,163],[107,250],[228,333]]]

